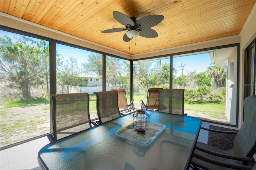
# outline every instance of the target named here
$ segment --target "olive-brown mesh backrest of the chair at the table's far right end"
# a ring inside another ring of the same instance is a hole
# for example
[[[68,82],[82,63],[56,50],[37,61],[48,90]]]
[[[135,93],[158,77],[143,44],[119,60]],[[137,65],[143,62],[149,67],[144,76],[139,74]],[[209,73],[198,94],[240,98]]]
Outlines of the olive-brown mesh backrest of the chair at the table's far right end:
[[[160,112],[184,115],[184,89],[160,89]]]

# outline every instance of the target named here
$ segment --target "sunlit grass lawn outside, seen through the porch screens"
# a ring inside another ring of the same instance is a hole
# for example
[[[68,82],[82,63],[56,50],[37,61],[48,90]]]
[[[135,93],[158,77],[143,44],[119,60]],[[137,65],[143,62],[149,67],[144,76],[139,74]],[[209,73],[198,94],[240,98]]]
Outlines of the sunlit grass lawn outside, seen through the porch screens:
[[[140,99],[146,103],[146,96],[135,94],[134,105],[140,109]],[[130,103],[130,95],[127,94]],[[49,132],[50,100],[48,98],[26,99],[21,101],[2,102],[0,109],[0,145],[6,146]],[[96,95],[90,95],[90,117],[97,119]],[[185,102],[184,113],[202,120],[228,123],[225,117],[225,103],[218,101]],[[4,135],[3,135],[4,134]],[[27,137],[27,138],[26,138]]]

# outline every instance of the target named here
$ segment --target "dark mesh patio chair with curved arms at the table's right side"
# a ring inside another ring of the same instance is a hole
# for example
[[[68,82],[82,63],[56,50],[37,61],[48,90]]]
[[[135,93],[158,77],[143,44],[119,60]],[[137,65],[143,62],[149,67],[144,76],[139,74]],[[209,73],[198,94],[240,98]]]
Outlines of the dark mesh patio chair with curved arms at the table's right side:
[[[214,130],[214,132],[222,131]],[[225,131],[225,133],[227,132]],[[197,142],[191,165],[194,169],[199,167],[210,170],[246,170],[252,168],[244,165],[248,165],[248,162],[254,162],[252,156],[255,152],[256,96],[249,96],[244,99],[244,122],[236,134],[233,148],[231,150],[222,150]]]

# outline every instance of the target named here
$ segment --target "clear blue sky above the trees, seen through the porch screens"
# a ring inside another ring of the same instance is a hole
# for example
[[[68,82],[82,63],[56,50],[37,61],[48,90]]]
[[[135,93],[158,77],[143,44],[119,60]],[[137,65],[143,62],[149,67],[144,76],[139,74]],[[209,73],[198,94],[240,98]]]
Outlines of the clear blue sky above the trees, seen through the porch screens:
[[[4,37],[4,35],[6,35],[7,37],[12,38],[13,40],[15,40],[13,38],[13,36],[15,36],[16,38],[19,38],[19,34],[14,34],[11,32],[6,32],[3,30],[0,30],[0,36]],[[36,39],[39,41],[39,39]],[[78,65],[80,65],[81,63],[84,63],[87,61],[88,59],[88,55],[92,54],[93,52],[91,51],[86,51],[83,49],[78,49],[78,48],[74,48],[74,47],[69,47],[66,45],[61,45],[61,44],[57,44],[56,45],[56,49],[58,51],[59,54],[61,54],[62,56],[64,56],[63,60],[68,59],[70,56],[72,57],[76,57]],[[164,59],[162,61],[169,63],[169,59]],[[174,67],[176,69],[178,69],[178,74],[177,76],[179,76],[181,74],[180,68],[178,66],[180,66],[180,63],[185,63],[186,65],[184,66],[184,71],[183,74],[188,74],[191,71],[196,70],[197,73],[206,71],[207,68],[210,66],[210,55],[209,53],[204,53],[204,54],[198,54],[198,55],[189,55],[189,56],[184,56],[184,57],[174,57],[173,59],[173,64]]]

